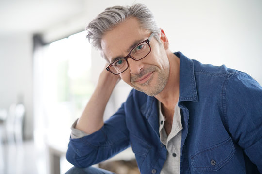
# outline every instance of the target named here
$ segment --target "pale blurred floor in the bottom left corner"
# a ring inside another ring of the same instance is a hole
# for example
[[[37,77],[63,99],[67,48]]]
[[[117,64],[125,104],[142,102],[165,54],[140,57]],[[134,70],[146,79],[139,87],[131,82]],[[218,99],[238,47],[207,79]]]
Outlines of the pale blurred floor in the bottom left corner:
[[[0,174],[50,174],[49,166],[47,148],[39,147],[33,141],[0,145]],[[66,157],[61,157],[61,174],[70,167]]]

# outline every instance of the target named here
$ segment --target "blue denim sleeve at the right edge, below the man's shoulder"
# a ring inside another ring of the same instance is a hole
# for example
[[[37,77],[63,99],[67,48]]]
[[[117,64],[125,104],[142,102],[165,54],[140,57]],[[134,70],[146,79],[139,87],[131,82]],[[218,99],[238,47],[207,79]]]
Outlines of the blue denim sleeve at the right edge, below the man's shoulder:
[[[236,73],[229,77],[225,96],[232,138],[262,173],[262,87],[246,73]]]

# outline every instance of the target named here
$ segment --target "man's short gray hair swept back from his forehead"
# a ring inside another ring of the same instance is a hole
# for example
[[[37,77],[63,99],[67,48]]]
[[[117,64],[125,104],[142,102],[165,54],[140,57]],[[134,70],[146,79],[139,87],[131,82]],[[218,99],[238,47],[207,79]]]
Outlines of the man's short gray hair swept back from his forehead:
[[[92,20],[86,27],[86,38],[96,49],[101,50],[101,39],[103,35],[124,22],[126,19],[135,17],[140,27],[155,33],[154,37],[159,41],[159,27],[156,24],[152,12],[144,4],[134,4],[132,6],[113,6],[106,8],[102,13]]]

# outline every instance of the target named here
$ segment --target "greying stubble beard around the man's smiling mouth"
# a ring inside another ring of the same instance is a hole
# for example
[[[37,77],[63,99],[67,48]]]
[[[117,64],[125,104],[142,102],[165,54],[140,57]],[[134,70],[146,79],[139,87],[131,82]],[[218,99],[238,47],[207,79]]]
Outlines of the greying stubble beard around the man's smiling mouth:
[[[150,73],[150,72],[154,72],[155,74],[153,74],[153,75],[157,76],[156,84],[154,86],[150,86],[150,83],[153,80],[153,78],[150,78],[145,83],[139,84],[139,86],[141,86],[141,87],[139,87],[138,84],[135,83],[135,81],[137,79],[143,77],[145,74]],[[165,72],[164,70],[161,71],[156,66],[150,66],[146,70],[143,69],[138,75],[131,75],[130,81],[131,81],[131,84],[134,86],[134,88],[136,90],[144,92],[148,96],[156,96],[157,94],[159,94],[164,89],[164,87],[167,83],[167,80],[168,80],[168,76],[169,76],[169,69],[168,69],[167,72]],[[142,88],[142,87],[144,87],[144,88]]]

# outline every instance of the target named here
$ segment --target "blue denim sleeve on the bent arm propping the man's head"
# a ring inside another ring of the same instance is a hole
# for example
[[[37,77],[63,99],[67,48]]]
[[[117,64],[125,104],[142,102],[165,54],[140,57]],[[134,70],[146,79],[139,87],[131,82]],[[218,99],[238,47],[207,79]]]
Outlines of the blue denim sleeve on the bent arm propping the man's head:
[[[104,126],[98,131],[82,138],[73,139],[71,136],[66,159],[76,167],[89,167],[123,151],[130,145],[125,120],[125,108],[122,104],[120,109],[105,121]],[[72,133],[78,134],[73,130]],[[83,135],[80,134],[80,136]]]

